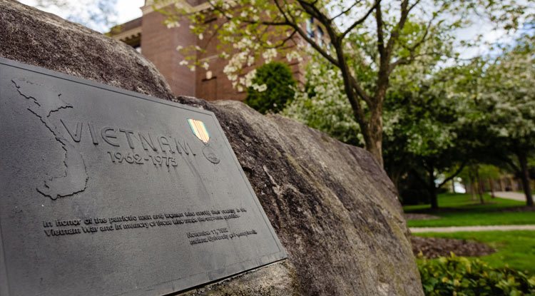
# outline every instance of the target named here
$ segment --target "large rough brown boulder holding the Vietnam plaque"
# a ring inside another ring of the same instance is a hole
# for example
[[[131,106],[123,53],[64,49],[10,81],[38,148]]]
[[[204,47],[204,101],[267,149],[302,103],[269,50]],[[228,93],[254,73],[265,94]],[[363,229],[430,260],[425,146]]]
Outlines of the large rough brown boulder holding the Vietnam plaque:
[[[126,44],[0,0],[0,56],[213,111],[288,259],[188,295],[423,295],[394,185],[361,148],[243,103],[178,97]]]

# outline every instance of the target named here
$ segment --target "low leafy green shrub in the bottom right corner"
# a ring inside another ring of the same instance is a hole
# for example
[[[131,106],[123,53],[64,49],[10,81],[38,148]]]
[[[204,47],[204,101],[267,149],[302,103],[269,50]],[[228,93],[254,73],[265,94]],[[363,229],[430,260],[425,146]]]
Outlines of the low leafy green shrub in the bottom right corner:
[[[467,257],[439,257],[418,264],[425,295],[535,295],[535,276],[509,267],[489,267]]]

